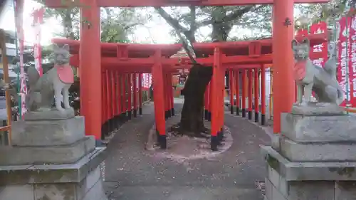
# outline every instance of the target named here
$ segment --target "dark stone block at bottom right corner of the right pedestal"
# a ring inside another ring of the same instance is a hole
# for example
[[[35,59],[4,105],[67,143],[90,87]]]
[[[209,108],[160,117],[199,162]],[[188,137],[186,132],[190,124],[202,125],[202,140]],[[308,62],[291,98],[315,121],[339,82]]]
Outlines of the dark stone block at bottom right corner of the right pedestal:
[[[335,200],[356,199],[356,181],[336,181]]]

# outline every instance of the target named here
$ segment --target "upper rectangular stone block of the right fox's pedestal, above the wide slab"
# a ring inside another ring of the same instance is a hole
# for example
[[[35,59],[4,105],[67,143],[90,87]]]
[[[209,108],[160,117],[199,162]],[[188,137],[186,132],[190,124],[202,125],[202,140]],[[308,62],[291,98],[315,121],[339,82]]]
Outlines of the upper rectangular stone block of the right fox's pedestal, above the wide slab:
[[[356,141],[356,116],[281,114],[281,133],[295,142]]]

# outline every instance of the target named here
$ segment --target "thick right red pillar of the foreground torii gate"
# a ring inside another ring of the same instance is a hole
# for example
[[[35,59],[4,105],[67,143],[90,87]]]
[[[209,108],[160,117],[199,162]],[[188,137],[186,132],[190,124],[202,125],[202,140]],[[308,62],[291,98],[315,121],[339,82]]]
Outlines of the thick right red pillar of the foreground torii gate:
[[[294,103],[293,0],[273,1],[273,132],[281,132],[281,113],[290,112]],[[288,23],[291,22],[291,24]]]

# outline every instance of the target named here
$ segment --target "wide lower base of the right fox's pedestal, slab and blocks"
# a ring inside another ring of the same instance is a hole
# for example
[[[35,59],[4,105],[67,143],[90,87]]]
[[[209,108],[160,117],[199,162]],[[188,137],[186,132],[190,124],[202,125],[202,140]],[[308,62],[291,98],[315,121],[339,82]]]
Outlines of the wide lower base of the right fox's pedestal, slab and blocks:
[[[271,147],[265,157],[268,200],[352,200],[356,196],[356,162],[290,162]]]

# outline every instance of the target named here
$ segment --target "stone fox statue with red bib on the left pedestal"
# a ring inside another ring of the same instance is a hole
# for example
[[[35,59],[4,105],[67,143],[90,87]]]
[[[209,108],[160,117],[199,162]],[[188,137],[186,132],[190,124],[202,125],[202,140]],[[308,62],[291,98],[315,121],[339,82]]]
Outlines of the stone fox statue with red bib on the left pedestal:
[[[73,70],[69,65],[69,46],[58,47],[53,44],[54,67],[42,77],[36,68],[28,68],[28,95],[26,107],[28,111],[52,110],[53,97],[56,99],[56,109],[60,112],[72,109],[69,104],[69,88],[74,82]],[[63,105],[61,96],[63,95]]]

